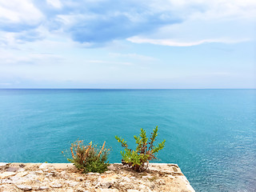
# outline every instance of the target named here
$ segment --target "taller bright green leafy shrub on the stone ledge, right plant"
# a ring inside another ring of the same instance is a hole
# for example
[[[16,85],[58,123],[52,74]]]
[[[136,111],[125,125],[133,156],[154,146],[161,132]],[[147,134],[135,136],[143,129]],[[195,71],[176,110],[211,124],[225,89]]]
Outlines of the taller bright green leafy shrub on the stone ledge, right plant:
[[[153,133],[151,133],[150,140],[146,138],[146,131],[141,129],[139,136],[134,135],[137,144],[136,150],[128,149],[127,142],[125,142],[123,138],[115,136],[118,142],[121,142],[122,146],[125,148],[124,151],[121,151],[122,164],[138,172],[146,170],[149,166],[149,161],[155,159],[155,154],[165,146],[166,140],[158,143],[158,146],[154,146],[157,136],[158,126],[156,126]]]

